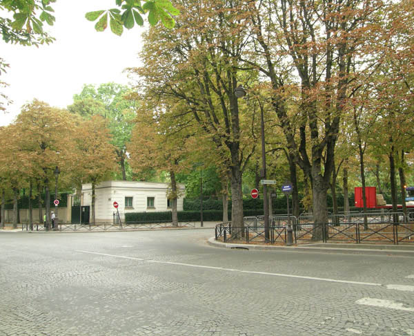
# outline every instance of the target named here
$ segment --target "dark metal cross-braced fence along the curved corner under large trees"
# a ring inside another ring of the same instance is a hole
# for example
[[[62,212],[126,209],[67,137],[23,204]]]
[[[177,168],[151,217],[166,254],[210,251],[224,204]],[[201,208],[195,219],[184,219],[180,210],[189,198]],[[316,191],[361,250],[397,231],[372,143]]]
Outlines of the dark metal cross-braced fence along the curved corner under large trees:
[[[237,229],[237,236],[232,232]],[[285,226],[269,226],[270,238],[264,236],[264,226],[231,227],[229,223],[221,223],[215,227],[215,239],[224,242],[246,243],[284,243],[287,229]],[[297,223],[293,225],[294,243],[318,241],[323,243],[414,243],[413,222],[391,223]]]

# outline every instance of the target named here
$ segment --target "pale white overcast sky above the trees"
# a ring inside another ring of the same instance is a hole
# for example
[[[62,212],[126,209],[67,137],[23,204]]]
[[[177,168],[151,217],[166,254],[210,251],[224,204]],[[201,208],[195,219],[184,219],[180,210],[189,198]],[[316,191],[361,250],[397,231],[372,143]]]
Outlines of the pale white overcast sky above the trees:
[[[45,24],[45,30],[56,38],[55,43],[36,48],[0,41],[0,57],[10,64],[0,77],[10,86],[1,92],[14,102],[6,106],[8,113],[0,111],[0,126],[12,122],[21,106],[34,98],[65,108],[83,84],[128,84],[122,71],[139,66],[144,28],[124,29],[118,37],[109,27],[97,32],[96,22],[85,19],[86,12],[114,8],[115,0],[58,0],[52,7],[56,21],[51,27]]]

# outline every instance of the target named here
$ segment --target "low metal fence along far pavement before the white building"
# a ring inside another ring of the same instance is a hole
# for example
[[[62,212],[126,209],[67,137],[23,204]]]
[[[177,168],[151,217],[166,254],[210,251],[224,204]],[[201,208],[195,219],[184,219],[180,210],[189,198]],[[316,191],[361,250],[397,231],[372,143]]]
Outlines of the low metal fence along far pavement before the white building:
[[[119,231],[119,230],[139,230],[139,229],[159,229],[166,227],[174,227],[172,222],[165,221],[142,221],[142,222],[127,222],[127,223],[95,223],[95,224],[66,224],[59,223],[57,231]],[[178,227],[195,227],[195,221],[182,221],[178,223]],[[28,223],[21,224],[22,231],[31,231]],[[46,231],[43,224],[33,224],[32,231]],[[52,229],[50,230],[51,232]]]

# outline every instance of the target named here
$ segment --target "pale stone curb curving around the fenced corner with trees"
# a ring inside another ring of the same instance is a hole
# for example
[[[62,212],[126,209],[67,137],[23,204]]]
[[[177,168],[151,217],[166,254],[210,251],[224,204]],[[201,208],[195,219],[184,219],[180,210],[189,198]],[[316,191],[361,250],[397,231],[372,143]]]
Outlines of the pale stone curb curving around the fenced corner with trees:
[[[221,243],[215,240],[215,237],[211,237],[207,241],[208,245],[211,245],[215,248],[228,248],[234,250],[268,250],[268,251],[283,251],[283,252],[319,252],[319,253],[345,253],[345,254],[373,254],[373,255],[385,255],[385,256],[411,256],[414,257],[414,246],[407,247],[401,246],[400,250],[397,250],[399,247],[393,245],[359,245],[348,246],[348,248],[334,248],[331,245],[327,247],[321,246],[269,246],[269,245],[254,245],[254,244],[234,244],[234,243]],[[320,245],[320,244],[319,244]],[[375,248],[373,248],[375,247]],[[411,250],[409,249],[411,248]]]

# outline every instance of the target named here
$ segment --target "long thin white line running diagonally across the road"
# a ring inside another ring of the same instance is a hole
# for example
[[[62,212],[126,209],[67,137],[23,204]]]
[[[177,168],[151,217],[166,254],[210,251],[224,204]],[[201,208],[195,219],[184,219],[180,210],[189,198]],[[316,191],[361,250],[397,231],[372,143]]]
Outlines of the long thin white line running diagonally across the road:
[[[193,268],[206,268],[206,269],[209,269],[209,270],[224,270],[224,271],[228,271],[228,272],[240,272],[240,273],[247,273],[247,274],[262,274],[262,275],[270,275],[270,276],[273,276],[273,277],[287,277],[287,278],[307,279],[307,280],[316,280],[316,281],[328,281],[328,282],[336,282],[336,283],[352,283],[352,284],[355,284],[355,285],[382,286],[381,283],[350,281],[350,280],[337,280],[337,279],[319,278],[319,277],[306,277],[306,276],[303,276],[303,275],[282,274],[282,273],[236,270],[236,269],[233,269],[233,268],[222,268],[222,267],[215,267],[215,266],[195,265],[195,264],[191,264],[191,263],[177,263],[177,262],[174,262],[174,261],[149,260],[149,259],[135,258],[133,256],[120,256],[118,254],[107,254],[107,253],[91,252],[91,251],[85,251],[85,250],[75,250],[75,251],[82,252],[82,253],[89,253],[89,254],[97,254],[97,255],[101,255],[101,256],[112,256],[114,258],[123,258],[123,259],[146,261],[148,263],[164,263],[164,264],[167,264],[167,265],[179,265],[179,266],[186,266],[186,267],[193,267]]]

